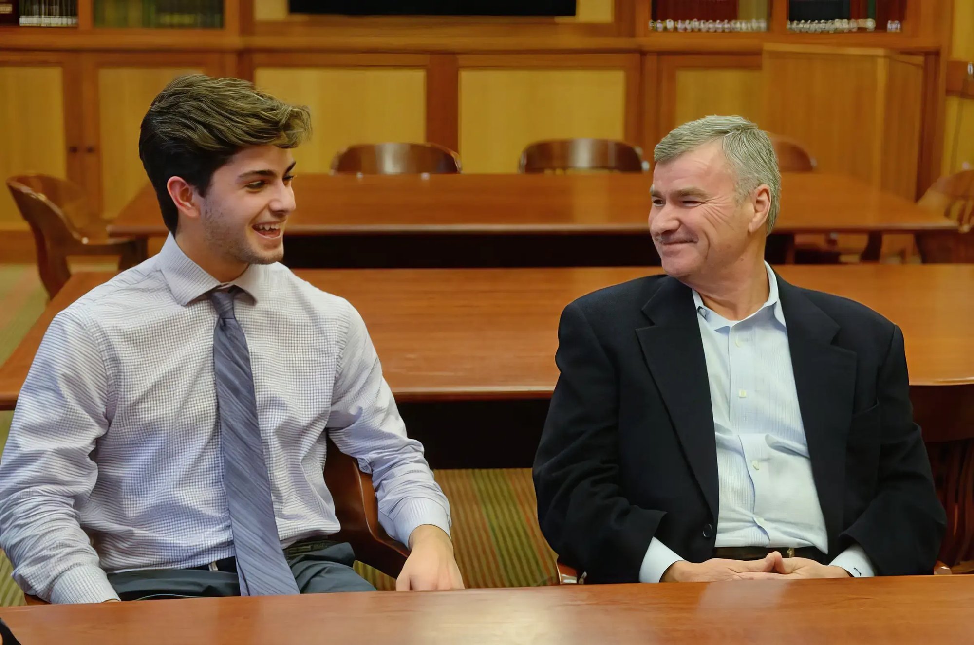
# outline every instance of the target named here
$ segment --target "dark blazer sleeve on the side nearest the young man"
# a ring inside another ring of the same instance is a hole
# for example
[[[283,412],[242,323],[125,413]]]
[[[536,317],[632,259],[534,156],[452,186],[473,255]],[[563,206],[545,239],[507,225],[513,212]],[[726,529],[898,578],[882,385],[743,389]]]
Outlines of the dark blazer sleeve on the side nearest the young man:
[[[534,479],[544,537],[590,580],[635,583],[665,512],[625,499],[618,467],[618,375],[577,303],[558,327],[560,370]]]

